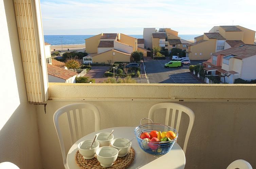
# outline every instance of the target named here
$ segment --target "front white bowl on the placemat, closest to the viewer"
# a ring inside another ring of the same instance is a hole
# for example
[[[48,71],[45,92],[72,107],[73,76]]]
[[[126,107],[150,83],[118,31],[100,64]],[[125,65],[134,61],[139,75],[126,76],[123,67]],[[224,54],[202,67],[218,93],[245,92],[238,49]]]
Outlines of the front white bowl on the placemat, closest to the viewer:
[[[96,151],[97,160],[102,167],[111,167],[116,161],[118,150],[114,147],[104,146]]]

